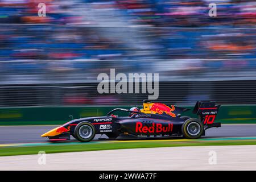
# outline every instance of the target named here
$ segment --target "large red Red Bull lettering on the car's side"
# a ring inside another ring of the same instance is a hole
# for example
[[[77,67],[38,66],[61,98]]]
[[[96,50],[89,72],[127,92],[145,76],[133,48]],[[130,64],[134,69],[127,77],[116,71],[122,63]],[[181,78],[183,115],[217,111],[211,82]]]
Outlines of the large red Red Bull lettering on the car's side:
[[[152,123],[152,126],[143,126],[142,122],[136,123],[136,133],[167,133],[171,132],[173,128],[172,123],[168,123],[168,126],[163,126],[161,123]]]

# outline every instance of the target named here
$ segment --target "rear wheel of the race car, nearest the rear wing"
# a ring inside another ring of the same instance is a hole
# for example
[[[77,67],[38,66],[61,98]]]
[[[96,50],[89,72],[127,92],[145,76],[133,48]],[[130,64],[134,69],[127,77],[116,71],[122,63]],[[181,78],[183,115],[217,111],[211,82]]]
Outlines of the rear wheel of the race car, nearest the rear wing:
[[[199,119],[189,118],[183,123],[181,131],[183,137],[188,139],[197,139],[200,138],[203,134],[204,126],[203,123],[199,121]]]

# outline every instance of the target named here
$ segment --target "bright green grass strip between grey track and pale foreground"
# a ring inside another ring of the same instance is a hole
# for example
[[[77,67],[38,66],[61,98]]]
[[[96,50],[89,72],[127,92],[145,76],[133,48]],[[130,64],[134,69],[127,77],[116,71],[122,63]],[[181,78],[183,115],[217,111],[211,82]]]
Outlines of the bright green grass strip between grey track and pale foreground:
[[[38,154],[45,151],[46,154],[57,152],[80,152],[98,150],[116,150],[125,148],[154,148],[154,147],[181,147],[181,146],[230,146],[230,145],[254,145],[255,139],[251,140],[191,140],[191,141],[139,141],[139,142],[91,142],[82,144],[52,144],[44,146],[26,147],[0,147],[0,156]]]

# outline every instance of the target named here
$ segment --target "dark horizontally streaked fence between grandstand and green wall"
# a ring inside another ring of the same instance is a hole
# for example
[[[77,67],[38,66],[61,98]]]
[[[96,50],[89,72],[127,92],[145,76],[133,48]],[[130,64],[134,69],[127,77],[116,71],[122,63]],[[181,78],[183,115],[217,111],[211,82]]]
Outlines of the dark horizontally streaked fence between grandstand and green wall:
[[[154,82],[152,83],[154,87]],[[127,84],[127,88],[128,88]],[[139,105],[150,95],[166,104],[193,105],[197,100],[218,104],[256,104],[256,81],[168,81],[159,82],[154,93],[103,93],[98,82],[84,84],[1,85],[0,107]],[[135,87],[135,85],[134,85]],[[109,85],[110,88],[110,85]]]

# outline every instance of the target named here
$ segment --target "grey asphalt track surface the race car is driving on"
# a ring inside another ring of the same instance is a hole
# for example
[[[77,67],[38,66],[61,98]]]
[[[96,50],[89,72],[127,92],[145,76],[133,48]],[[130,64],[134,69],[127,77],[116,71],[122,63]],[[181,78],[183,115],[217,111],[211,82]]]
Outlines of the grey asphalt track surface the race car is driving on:
[[[0,126],[0,144],[8,143],[38,143],[48,142],[47,138],[40,135],[56,126]],[[203,138],[222,137],[256,137],[256,125],[253,124],[226,124],[219,128],[212,128],[205,131]],[[99,135],[96,135],[98,139]],[[103,136],[102,139],[106,139]],[[73,141],[76,141],[72,138]]]

